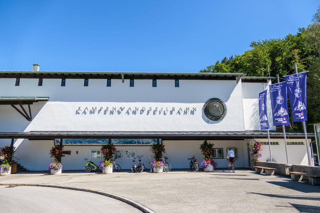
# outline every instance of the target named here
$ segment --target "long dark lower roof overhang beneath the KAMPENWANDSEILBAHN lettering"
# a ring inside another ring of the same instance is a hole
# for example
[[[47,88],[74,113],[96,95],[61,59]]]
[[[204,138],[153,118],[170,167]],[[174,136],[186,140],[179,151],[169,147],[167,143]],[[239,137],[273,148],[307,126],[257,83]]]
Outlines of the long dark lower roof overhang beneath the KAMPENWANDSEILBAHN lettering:
[[[304,138],[304,133],[287,132],[287,138]],[[162,138],[176,140],[243,140],[246,138],[268,138],[267,131],[30,131],[0,132],[0,138],[55,139],[55,138]],[[270,138],[283,138],[282,132],[270,131]],[[315,138],[308,133],[308,138]]]

